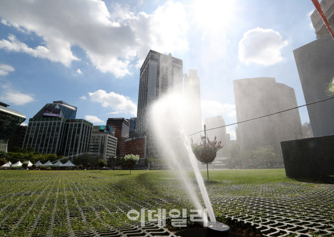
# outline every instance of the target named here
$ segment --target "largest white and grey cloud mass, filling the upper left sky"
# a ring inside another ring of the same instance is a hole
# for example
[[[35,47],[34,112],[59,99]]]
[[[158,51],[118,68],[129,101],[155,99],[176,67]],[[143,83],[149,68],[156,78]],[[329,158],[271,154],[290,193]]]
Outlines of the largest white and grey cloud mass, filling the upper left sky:
[[[119,78],[131,74],[130,67],[140,65],[150,49],[164,53],[188,49],[188,22],[180,2],[167,1],[153,14],[135,14],[118,4],[109,12],[102,0],[17,0],[3,2],[0,16],[2,24],[24,29],[25,34],[34,32],[43,40],[32,48],[9,35],[0,48],[70,66],[79,60],[71,47],[79,46],[95,68]]]

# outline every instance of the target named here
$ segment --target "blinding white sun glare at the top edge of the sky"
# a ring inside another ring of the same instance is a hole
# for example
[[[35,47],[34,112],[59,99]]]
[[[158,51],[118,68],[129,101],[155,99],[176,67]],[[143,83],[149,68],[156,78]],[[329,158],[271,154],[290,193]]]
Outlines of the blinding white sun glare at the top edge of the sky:
[[[204,32],[223,31],[232,22],[235,0],[194,0],[190,15]]]

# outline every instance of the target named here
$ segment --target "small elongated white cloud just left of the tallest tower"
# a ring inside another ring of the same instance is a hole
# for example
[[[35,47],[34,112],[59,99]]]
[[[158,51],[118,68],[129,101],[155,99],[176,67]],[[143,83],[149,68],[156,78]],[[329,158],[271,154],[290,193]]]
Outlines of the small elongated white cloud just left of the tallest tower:
[[[94,93],[90,92],[88,95],[91,101],[101,103],[102,107],[126,112],[134,116],[137,115],[137,106],[128,97],[115,92],[107,93],[104,90],[98,90]]]

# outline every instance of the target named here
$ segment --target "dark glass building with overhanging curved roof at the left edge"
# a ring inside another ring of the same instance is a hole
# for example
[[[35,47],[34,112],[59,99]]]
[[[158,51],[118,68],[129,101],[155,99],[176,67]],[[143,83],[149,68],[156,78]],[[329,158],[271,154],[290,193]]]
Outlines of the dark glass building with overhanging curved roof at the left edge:
[[[7,142],[11,133],[25,121],[26,117],[0,102],[0,150],[7,152]]]

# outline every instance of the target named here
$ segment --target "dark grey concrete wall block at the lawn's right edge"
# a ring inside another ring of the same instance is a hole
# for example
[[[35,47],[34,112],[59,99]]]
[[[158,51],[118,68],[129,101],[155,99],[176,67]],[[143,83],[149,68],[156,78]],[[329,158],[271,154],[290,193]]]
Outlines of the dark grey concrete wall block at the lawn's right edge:
[[[334,175],[334,135],[282,141],[281,146],[288,177]]]

